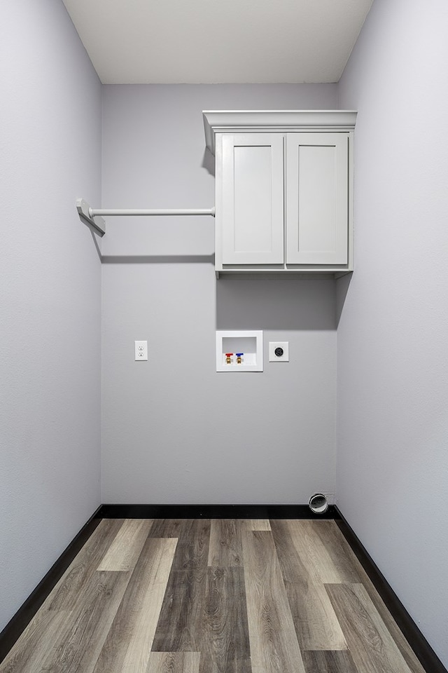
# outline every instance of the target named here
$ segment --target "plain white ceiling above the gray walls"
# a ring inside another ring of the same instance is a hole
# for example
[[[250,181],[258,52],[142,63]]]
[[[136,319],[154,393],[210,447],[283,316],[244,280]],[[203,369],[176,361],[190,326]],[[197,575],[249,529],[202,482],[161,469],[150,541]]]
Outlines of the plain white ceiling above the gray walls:
[[[372,0],[63,0],[104,84],[337,82]]]

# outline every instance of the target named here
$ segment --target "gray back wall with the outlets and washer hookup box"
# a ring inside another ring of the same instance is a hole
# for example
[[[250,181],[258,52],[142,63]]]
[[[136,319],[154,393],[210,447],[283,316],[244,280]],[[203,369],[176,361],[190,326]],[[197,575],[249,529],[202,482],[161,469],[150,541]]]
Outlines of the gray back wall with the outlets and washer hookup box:
[[[335,107],[335,85],[104,86],[103,205],[213,205],[203,109]],[[103,502],[334,491],[334,281],[216,281],[211,218],[109,218],[103,252]],[[218,374],[216,329],[263,329],[290,363]]]

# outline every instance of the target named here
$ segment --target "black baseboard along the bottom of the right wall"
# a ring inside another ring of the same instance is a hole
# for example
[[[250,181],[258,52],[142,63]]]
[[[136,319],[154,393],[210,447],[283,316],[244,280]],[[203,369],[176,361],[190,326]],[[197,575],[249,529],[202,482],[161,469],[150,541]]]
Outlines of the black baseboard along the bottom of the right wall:
[[[428,671],[428,673],[448,673],[433,648],[419,630],[419,627],[405,609],[405,606],[403,606],[397,594],[393,591],[391,585],[379,570],[377,564],[375,564],[365,547],[363,547],[363,544],[360,542],[358,536],[356,536],[356,533],[346,522],[346,519],[344,519],[344,516],[339,509],[335,507],[335,510],[337,512],[337,517],[335,517],[337,526],[339,526],[339,529],[351,546],[358,561],[370,577],[370,580],[372,580],[372,584],[381,596],[381,599],[383,599],[386,608],[393,616],[423,668]]]

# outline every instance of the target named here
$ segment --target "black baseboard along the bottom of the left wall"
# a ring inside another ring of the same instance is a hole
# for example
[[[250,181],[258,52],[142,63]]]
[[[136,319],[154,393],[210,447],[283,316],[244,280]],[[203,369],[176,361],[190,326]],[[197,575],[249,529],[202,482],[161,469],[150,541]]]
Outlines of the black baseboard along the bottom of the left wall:
[[[6,657],[10,649],[18,640],[20,634],[30,623],[43,601],[48,597],[50,591],[56,586],[66,569],[69,567],[74,557],[83,547],[88,538],[92,535],[94,529],[101,521],[99,510],[94,512],[87,523],[80,529],[78,535],[73,538],[69,546],[62,552],[59,559],[52,565],[45,577],[38,583],[36,589],[29,595],[25,603],[18,609],[10,622],[0,633],[0,662]]]

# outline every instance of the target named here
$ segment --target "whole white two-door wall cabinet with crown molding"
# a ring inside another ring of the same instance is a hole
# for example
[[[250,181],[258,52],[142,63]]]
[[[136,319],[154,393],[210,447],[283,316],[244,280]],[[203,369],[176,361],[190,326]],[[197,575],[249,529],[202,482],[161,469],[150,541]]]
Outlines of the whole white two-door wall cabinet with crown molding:
[[[353,269],[352,111],[204,112],[216,272]]]

